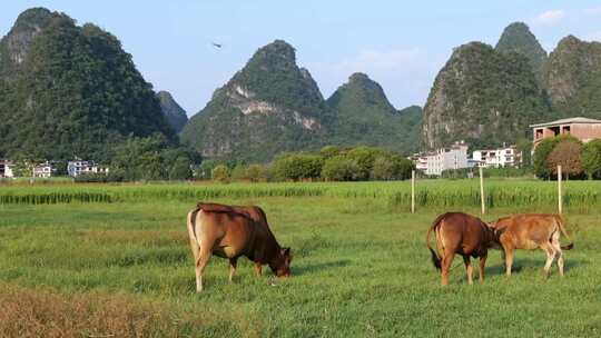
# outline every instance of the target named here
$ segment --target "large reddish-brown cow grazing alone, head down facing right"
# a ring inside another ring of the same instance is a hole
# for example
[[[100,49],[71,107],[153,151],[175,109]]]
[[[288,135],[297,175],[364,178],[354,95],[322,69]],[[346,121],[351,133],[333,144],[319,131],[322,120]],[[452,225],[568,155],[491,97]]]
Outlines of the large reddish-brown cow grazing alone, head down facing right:
[[[290,276],[290,249],[277,243],[259,207],[200,202],[188,212],[188,235],[197,291],[203,290],[203,271],[211,255],[229,259],[229,281],[240,256],[255,262],[257,276],[262,275],[263,265],[269,265],[277,277]]]

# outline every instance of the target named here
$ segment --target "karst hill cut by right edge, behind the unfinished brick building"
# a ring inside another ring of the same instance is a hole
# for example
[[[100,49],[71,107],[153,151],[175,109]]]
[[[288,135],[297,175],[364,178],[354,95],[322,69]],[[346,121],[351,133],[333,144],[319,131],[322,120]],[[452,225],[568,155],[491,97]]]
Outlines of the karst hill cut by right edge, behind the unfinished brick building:
[[[544,88],[554,107],[577,105],[575,101],[585,99],[580,96],[591,89],[590,84],[600,71],[601,43],[569,36],[558,43],[549,57],[544,69]]]

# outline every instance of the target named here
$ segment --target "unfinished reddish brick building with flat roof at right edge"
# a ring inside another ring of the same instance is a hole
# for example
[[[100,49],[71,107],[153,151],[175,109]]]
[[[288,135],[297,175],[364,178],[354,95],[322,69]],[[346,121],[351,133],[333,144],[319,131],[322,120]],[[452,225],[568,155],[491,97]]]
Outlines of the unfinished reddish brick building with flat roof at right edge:
[[[601,138],[601,120],[582,117],[531,125],[530,128],[532,128],[534,137],[533,147],[536,147],[542,140],[558,135],[570,135],[584,143]]]

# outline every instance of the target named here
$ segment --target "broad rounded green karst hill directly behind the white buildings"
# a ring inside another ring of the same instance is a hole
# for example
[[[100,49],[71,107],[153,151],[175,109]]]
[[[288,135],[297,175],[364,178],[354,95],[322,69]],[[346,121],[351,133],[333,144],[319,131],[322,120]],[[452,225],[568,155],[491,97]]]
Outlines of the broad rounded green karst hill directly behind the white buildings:
[[[462,139],[481,146],[513,142],[548,110],[525,57],[471,42],[456,48],[436,76],[422,137],[428,148]]]

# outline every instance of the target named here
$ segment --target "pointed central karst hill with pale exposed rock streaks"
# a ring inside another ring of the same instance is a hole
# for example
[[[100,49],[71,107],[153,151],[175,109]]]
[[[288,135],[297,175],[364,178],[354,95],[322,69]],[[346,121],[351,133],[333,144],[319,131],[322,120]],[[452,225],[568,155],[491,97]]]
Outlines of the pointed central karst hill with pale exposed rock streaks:
[[[318,147],[326,132],[323,105],[309,72],[296,64],[294,48],[276,40],[215,91],[181,138],[207,157],[266,161]]]

